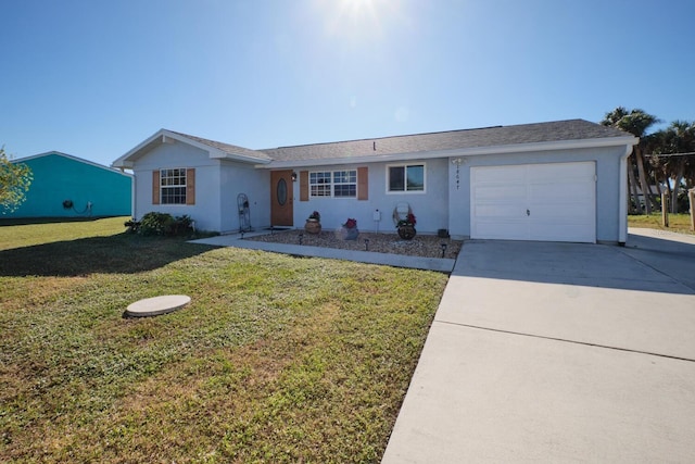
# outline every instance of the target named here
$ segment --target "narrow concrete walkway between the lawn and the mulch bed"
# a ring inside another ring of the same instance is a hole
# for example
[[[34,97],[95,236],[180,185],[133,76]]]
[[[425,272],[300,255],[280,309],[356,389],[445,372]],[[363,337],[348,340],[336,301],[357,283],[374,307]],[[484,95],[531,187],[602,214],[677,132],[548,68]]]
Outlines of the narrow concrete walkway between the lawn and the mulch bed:
[[[248,233],[245,238],[267,235],[268,231]],[[333,260],[356,261],[368,264],[383,264],[394,267],[410,267],[415,269],[439,271],[451,273],[455,260],[441,258],[405,256],[403,254],[375,253],[370,251],[339,250],[336,248],[308,247],[305,244],[273,243],[241,239],[238,234],[220,235],[217,237],[192,240],[192,243],[211,244],[215,247],[236,247],[250,250],[264,250],[276,253],[293,254],[295,256],[330,258]]]

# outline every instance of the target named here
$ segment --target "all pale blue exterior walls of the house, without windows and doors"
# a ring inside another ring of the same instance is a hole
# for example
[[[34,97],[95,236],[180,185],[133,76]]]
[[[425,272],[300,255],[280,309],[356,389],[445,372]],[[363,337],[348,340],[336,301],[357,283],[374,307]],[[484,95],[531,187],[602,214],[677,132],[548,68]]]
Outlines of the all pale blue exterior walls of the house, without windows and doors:
[[[539,151],[462,156],[458,168],[450,158],[408,160],[407,162],[374,162],[331,166],[306,165],[302,171],[343,171],[367,167],[368,199],[308,198],[300,200],[301,179],[292,184],[294,227],[304,226],[313,211],[321,214],[324,230],[340,228],[348,217],[357,220],[364,231],[395,233],[392,213],[399,202],[409,203],[417,217],[419,234],[435,234],[448,229],[455,238],[470,236],[470,168],[534,163],[582,162],[596,163],[596,239],[599,242],[620,240],[620,180],[624,173],[620,158],[624,146],[594,149]],[[426,187],[424,192],[387,191],[387,172],[390,165],[424,164]],[[195,168],[195,204],[152,204],[152,171],[161,168]],[[251,226],[262,229],[270,225],[270,170],[229,160],[211,160],[210,153],[190,145],[167,141],[157,145],[136,162],[134,216],[141,218],[150,211],[172,215],[188,214],[199,229],[233,233],[239,229],[237,196],[245,193],[251,206]],[[359,183],[359,181],[358,181]],[[62,202],[62,199],[61,199]],[[380,221],[375,222],[375,212]]]

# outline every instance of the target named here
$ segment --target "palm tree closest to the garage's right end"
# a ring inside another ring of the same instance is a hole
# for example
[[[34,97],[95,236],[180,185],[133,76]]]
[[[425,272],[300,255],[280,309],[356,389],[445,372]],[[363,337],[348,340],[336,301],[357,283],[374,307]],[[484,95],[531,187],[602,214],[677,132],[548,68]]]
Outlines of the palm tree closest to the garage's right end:
[[[644,110],[634,109],[628,112],[624,106],[618,106],[611,112],[606,113],[603,121],[601,122],[601,124],[604,126],[616,127],[618,129],[630,133],[635,137],[640,137],[640,143],[637,143],[637,146],[634,148],[634,156],[632,156],[632,159],[634,160],[633,163],[637,167],[637,175],[640,176],[640,188],[642,190],[642,195],[645,198],[644,205],[646,208],[647,214],[652,214],[652,202],[654,201],[654,198],[652,198],[652,189],[649,188],[645,174],[644,158],[642,156],[645,143],[642,138],[646,135],[647,129],[658,122],[659,120],[656,116],[646,113]],[[629,168],[628,180],[632,185],[635,208],[637,209],[639,213],[642,213],[642,205],[636,195],[633,170],[634,167]]]

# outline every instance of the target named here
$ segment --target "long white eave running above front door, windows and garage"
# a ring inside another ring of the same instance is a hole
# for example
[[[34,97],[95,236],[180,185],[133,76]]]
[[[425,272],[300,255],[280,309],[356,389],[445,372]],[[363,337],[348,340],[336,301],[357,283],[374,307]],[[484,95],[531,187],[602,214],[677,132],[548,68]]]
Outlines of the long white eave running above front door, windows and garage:
[[[412,161],[412,160],[431,160],[438,158],[452,156],[478,156],[485,154],[506,154],[506,153],[528,153],[532,151],[551,151],[551,150],[571,150],[597,147],[622,147],[634,146],[640,141],[636,137],[604,137],[578,140],[559,140],[533,143],[515,143],[490,147],[472,147],[456,148],[450,150],[434,151],[414,151],[407,153],[377,154],[368,156],[350,156],[350,158],[332,158],[332,159],[313,159],[313,160],[292,160],[292,161],[273,161],[263,165],[256,165],[258,168],[290,168],[303,166],[332,166],[339,164],[362,164],[362,163],[379,163],[393,161]]]

